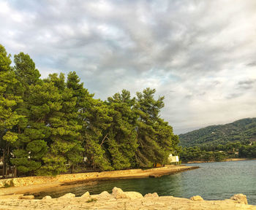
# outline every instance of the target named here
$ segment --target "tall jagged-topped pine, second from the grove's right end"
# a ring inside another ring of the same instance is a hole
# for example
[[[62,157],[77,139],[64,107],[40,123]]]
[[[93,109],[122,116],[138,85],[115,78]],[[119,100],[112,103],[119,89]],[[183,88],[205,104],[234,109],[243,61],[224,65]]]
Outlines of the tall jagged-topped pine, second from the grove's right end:
[[[155,89],[146,88],[143,93],[137,93],[136,109],[138,119],[138,150],[136,161],[138,167],[152,167],[165,159],[165,151],[162,150],[157,139],[156,123],[159,120],[160,109],[164,106],[164,97],[154,99]]]

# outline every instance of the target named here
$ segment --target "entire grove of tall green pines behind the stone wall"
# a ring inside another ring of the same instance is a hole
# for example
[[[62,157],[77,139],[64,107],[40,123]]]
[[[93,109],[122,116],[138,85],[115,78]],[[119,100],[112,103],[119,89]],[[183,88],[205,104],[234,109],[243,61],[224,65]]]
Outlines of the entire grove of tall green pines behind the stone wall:
[[[167,163],[178,136],[160,117],[164,97],[146,88],[102,101],[75,71],[40,79],[29,55],[0,44],[0,157],[2,175],[56,175],[78,167],[149,168]],[[86,161],[85,161],[86,160]]]

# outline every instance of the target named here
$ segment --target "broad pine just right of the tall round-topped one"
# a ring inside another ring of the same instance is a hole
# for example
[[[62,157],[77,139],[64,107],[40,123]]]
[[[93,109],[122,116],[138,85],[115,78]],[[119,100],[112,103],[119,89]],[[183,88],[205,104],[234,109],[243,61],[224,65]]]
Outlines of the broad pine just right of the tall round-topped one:
[[[78,112],[75,108],[77,98],[73,96],[72,90],[67,88],[64,74],[50,74],[45,79],[45,85],[53,85],[56,88],[58,101],[49,104],[50,112],[47,123],[50,127],[48,145],[50,147],[48,156],[43,158],[45,166],[40,169],[40,174],[56,175],[67,171],[68,164],[75,164],[82,157],[72,154],[76,149],[81,149],[77,139],[80,136],[81,125],[78,125]]]

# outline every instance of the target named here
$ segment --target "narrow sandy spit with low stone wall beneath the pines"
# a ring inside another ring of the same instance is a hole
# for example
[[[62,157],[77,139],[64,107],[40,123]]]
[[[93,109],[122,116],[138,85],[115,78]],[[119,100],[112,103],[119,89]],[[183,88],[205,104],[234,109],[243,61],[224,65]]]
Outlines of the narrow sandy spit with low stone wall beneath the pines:
[[[69,186],[72,184],[81,184],[86,182],[97,182],[110,179],[142,179],[148,177],[160,177],[170,174],[176,174],[182,171],[188,171],[200,168],[198,166],[165,166],[151,169],[131,169],[121,171],[102,171],[80,174],[60,174],[55,177],[49,176],[26,176],[12,179],[0,179],[0,195],[39,193],[50,190],[54,187]],[[4,188],[4,184],[13,184],[13,187]]]

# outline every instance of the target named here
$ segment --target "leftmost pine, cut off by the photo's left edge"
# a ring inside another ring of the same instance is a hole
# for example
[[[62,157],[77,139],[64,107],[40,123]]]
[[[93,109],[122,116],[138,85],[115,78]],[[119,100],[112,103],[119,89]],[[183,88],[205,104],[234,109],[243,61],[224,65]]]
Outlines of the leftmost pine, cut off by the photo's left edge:
[[[7,55],[5,48],[0,44],[0,146],[3,148],[3,176],[7,174],[10,162],[10,147],[13,147],[18,139],[13,128],[22,117],[15,112],[15,106],[22,100],[15,96],[14,87],[18,81],[11,63],[10,55]]]

